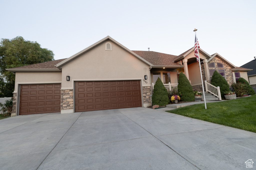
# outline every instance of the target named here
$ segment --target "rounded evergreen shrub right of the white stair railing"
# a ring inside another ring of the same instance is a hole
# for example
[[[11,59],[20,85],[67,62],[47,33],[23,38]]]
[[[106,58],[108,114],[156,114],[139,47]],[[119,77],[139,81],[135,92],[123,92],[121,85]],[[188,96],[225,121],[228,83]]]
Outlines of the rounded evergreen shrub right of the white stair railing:
[[[221,94],[221,98],[225,99],[224,95],[225,95],[225,91],[229,91],[229,84],[227,82],[227,80],[220,74],[218,73],[218,71],[215,70],[215,72],[213,73],[212,77],[211,77],[211,85],[214,85],[216,87],[220,87],[220,94]]]

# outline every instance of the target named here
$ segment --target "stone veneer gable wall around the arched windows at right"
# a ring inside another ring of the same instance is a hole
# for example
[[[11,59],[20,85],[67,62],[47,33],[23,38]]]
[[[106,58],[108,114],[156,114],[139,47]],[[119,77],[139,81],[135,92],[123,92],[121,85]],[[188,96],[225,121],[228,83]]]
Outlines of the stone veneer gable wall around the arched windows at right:
[[[225,74],[226,74],[226,80],[227,80],[229,86],[231,86],[231,84],[234,83],[231,67],[228,64],[226,64],[225,62],[223,62],[221,59],[219,59],[218,57],[214,57],[213,59],[211,59],[211,61],[209,61],[208,64],[213,63],[213,62],[223,64],[224,68],[217,68],[217,65],[215,64],[216,68],[209,68],[209,69],[215,69],[215,70],[218,70],[218,69],[223,70],[224,69]]]

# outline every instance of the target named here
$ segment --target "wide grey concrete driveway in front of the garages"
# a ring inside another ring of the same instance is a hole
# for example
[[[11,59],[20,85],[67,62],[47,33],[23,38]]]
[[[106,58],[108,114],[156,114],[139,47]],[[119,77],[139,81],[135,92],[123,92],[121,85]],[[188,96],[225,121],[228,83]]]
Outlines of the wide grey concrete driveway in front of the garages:
[[[0,120],[0,143],[0,169],[246,169],[256,161],[255,133],[149,108],[10,117]]]

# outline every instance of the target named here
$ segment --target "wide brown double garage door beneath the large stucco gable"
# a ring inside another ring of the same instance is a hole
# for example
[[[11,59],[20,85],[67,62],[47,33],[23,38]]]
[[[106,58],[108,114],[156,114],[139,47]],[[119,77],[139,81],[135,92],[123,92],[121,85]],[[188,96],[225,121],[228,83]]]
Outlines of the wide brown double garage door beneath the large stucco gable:
[[[140,81],[75,82],[75,112],[142,107]]]

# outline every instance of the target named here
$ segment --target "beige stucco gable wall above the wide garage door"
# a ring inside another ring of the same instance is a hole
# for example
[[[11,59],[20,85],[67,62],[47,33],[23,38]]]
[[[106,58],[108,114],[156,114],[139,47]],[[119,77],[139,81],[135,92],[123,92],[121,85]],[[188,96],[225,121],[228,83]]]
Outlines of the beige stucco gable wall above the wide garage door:
[[[105,43],[112,51],[105,50]],[[144,81],[144,75],[148,79]],[[70,81],[66,81],[70,76]],[[73,89],[74,81],[141,80],[150,85],[150,71],[142,61],[110,41],[106,41],[62,66],[62,89]]]

